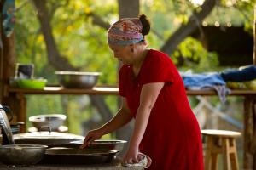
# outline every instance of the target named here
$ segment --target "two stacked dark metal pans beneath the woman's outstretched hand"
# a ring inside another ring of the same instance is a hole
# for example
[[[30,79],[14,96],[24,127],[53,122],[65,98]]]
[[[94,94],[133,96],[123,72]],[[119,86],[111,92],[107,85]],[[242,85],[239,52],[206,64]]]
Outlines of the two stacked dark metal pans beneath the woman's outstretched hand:
[[[73,141],[63,147],[46,150],[43,163],[102,164],[109,163],[123,149],[124,140],[96,140],[85,149],[79,149],[83,140]]]

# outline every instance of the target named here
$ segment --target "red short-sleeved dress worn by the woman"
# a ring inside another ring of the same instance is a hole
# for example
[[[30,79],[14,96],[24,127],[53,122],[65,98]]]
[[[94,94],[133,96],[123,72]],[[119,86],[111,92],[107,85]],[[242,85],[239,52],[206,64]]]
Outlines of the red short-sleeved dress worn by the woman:
[[[150,49],[137,77],[131,65],[119,71],[119,94],[136,117],[143,84],[165,82],[150,113],[140,151],[152,158],[149,169],[202,170],[201,132],[192,112],[183,80],[172,60]]]

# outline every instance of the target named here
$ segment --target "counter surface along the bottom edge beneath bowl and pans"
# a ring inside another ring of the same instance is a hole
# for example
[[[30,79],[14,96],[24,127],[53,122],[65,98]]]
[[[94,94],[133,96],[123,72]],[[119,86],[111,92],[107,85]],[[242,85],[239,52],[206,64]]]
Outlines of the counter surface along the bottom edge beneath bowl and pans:
[[[122,167],[119,159],[113,160],[111,163],[95,164],[95,165],[76,165],[76,164],[36,164],[28,167],[8,167],[0,162],[0,169],[9,170],[143,170],[143,167]]]

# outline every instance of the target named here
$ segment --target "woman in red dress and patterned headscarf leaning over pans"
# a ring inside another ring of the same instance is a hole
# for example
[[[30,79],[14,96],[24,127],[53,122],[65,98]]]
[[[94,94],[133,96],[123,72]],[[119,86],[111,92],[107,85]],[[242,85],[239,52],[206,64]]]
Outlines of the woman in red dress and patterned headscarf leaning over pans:
[[[152,159],[149,169],[201,170],[201,133],[183,80],[166,54],[146,48],[149,30],[145,15],[109,28],[108,45],[124,64],[119,70],[123,105],[111,121],[87,134],[81,148],[135,118],[124,163],[137,163],[142,152]]]

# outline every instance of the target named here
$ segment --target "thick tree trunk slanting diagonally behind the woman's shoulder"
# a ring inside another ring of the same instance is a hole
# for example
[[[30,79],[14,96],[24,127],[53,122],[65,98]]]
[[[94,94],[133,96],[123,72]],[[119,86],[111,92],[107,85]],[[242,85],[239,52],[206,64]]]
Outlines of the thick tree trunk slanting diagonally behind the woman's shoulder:
[[[212,8],[214,8],[217,1],[218,0],[206,0],[201,6],[201,11],[192,14],[192,16],[189,17],[189,22],[186,25],[180,26],[177,31],[167,39],[160,50],[166,54],[172,54],[180,42],[183,42],[197,27],[201,26],[201,21],[212,12]]]

